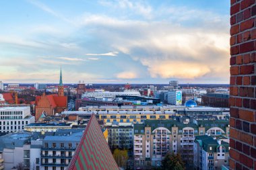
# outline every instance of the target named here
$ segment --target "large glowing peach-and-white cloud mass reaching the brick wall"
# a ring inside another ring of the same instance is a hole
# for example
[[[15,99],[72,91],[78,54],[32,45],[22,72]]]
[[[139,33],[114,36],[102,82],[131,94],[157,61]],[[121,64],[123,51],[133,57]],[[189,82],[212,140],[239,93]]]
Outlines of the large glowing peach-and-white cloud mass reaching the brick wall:
[[[106,47],[115,48],[135,62],[141,62],[152,78],[195,80],[219,77],[228,80],[229,33],[224,24],[226,20],[215,19],[220,18],[218,15],[210,15],[214,18],[207,18],[212,19],[212,22],[207,22],[202,14],[205,12],[208,15],[207,11],[199,12],[197,22],[200,28],[165,20],[127,21],[104,15],[87,17],[86,26],[94,24],[97,29],[91,34],[101,38]],[[189,20],[189,17],[183,20]]]

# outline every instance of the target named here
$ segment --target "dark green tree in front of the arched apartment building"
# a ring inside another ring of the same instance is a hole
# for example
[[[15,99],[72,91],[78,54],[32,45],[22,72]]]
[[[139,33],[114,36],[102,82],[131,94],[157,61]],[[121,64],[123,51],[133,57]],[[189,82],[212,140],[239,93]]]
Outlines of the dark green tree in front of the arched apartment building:
[[[185,163],[181,159],[181,155],[174,153],[168,153],[162,160],[161,169],[170,169],[170,170],[183,170],[185,169]]]

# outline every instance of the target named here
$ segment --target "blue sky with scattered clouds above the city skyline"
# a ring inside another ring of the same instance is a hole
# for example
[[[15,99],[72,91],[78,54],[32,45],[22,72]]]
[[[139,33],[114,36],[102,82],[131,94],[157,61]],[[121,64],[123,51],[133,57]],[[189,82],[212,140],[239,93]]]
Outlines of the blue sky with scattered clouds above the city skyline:
[[[3,83],[229,83],[229,0],[0,1]]]

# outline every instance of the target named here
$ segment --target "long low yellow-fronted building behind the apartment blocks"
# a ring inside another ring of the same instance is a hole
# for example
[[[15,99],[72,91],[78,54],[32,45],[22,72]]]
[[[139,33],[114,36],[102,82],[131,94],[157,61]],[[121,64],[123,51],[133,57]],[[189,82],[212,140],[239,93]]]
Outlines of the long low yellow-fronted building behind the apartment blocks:
[[[219,120],[229,117],[229,109],[185,106],[87,106],[79,111],[62,112],[65,116],[76,116],[82,120],[89,120],[92,114],[104,123],[112,122],[143,122],[144,120],[168,120],[172,116],[216,116]]]

